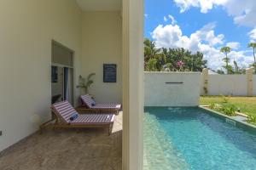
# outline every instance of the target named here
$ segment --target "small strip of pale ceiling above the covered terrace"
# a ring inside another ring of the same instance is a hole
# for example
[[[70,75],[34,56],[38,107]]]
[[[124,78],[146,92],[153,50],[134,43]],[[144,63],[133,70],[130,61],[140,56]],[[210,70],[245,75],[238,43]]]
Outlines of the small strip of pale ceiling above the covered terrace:
[[[119,11],[122,0],[77,0],[84,11]]]

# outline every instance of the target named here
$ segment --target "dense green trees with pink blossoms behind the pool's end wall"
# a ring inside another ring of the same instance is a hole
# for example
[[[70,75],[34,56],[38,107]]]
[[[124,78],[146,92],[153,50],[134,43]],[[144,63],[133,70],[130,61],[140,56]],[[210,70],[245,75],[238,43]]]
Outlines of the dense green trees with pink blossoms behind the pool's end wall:
[[[203,54],[184,48],[156,48],[148,38],[144,41],[145,71],[202,71],[207,67]]]

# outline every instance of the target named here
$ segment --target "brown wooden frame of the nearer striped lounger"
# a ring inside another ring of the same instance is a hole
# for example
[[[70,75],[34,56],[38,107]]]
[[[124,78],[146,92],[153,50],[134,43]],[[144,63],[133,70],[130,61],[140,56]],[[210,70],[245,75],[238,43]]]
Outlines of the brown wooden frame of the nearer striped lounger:
[[[43,133],[44,129],[55,129],[55,128],[108,128],[108,135],[111,135],[112,129],[113,129],[113,122],[102,123],[102,124],[100,123],[67,124],[62,121],[61,116],[58,116],[58,114],[56,114],[55,111],[52,111],[52,119],[49,120],[48,122],[44,122],[40,126],[40,132]]]

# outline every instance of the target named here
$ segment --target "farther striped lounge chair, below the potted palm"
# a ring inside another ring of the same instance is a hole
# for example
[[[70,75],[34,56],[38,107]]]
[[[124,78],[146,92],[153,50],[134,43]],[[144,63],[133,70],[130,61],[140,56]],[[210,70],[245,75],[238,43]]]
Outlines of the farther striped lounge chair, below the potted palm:
[[[85,110],[89,109],[90,111],[96,112],[114,112],[116,115],[119,114],[119,110],[121,109],[120,104],[98,104],[94,99],[91,98],[89,94],[80,96],[82,107]]]

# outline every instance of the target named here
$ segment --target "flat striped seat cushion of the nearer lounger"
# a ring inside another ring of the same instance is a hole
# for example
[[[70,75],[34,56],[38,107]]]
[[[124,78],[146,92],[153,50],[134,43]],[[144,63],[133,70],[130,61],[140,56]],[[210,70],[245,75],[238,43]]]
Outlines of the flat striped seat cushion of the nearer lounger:
[[[114,121],[113,114],[85,114],[79,117],[70,124],[109,124]]]

